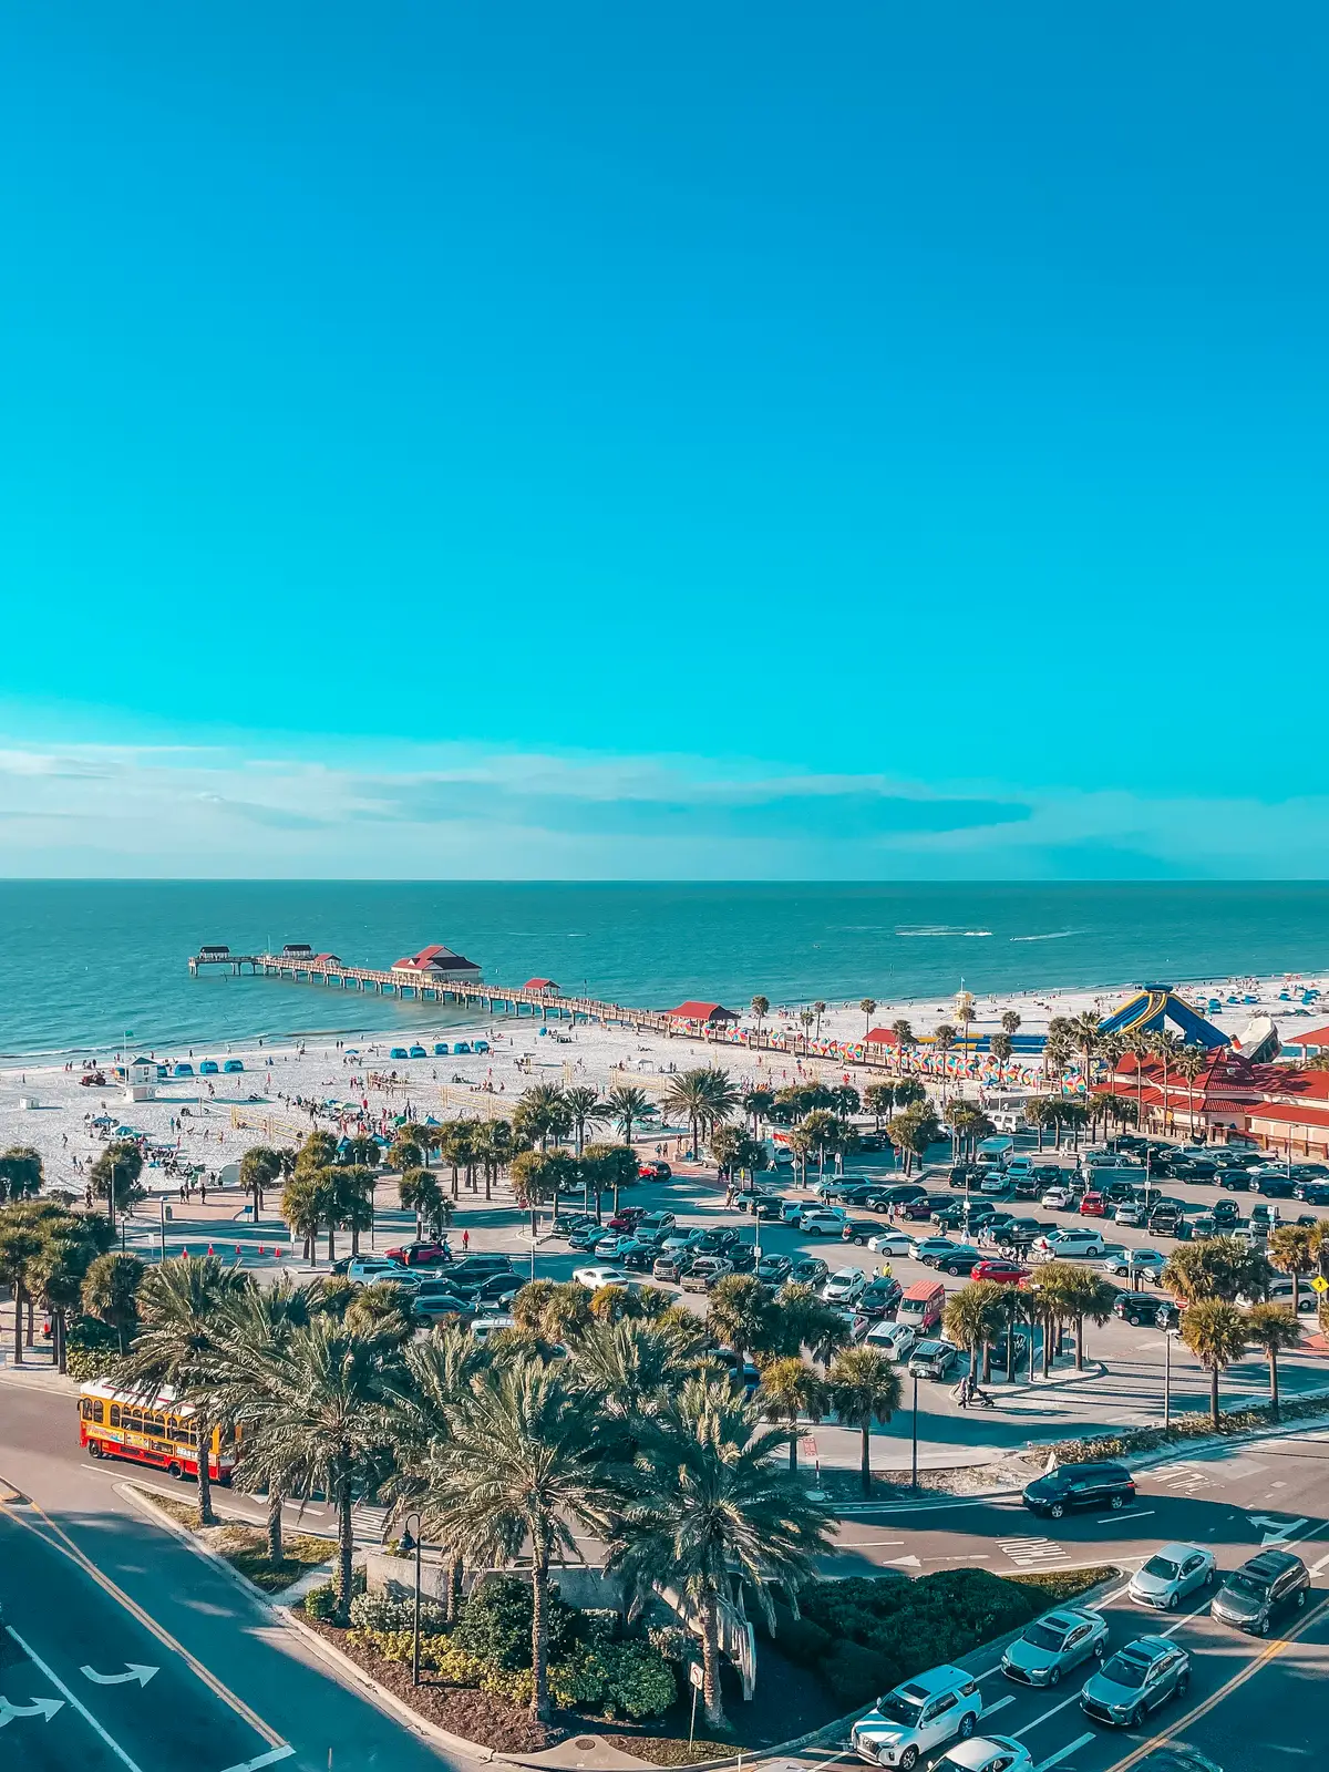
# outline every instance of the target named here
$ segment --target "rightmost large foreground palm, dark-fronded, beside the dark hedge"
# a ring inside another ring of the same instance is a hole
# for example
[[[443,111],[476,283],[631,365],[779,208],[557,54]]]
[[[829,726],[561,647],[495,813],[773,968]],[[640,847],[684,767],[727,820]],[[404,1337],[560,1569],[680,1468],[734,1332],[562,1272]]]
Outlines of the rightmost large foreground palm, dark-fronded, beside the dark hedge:
[[[629,1591],[673,1588],[702,1623],[702,1698],[725,1728],[719,1613],[741,1581],[774,1623],[769,1584],[797,1588],[826,1547],[829,1517],[773,1462],[785,1428],[762,1425],[760,1402],[693,1379],[643,1437],[622,1490],[608,1566]]]

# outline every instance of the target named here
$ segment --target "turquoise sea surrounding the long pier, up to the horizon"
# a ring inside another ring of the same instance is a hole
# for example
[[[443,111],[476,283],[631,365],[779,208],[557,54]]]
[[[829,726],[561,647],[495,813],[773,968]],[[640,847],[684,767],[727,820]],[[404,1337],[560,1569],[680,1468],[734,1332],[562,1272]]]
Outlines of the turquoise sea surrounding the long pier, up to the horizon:
[[[392,884],[0,881],[0,1054],[409,1030],[438,1006],[214,973],[308,941],[386,966],[443,941],[498,983],[620,1003],[927,998],[1329,969],[1329,884]]]

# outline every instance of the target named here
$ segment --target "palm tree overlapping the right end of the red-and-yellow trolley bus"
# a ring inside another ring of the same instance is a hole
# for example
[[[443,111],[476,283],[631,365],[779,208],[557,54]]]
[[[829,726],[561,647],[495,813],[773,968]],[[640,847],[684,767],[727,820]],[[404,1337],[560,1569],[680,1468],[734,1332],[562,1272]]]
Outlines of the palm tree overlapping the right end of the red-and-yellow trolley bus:
[[[154,1396],[167,1386],[193,1403],[193,1444],[198,1460],[198,1524],[216,1526],[213,1512],[213,1428],[218,1423],[213,1391],[218,1379],[218,1338],[229,1299],[252,1281],[214,1255],[181,1255],[144,1274],[138,1288],[138,1338],[115,1382]]]

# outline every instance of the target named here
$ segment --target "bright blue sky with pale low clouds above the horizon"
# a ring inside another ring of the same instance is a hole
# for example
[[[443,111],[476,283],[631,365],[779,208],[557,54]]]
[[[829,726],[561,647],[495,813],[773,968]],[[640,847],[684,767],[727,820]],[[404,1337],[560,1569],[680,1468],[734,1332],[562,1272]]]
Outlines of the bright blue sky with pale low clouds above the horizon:
[[[1324,875],[1327,50],[21,9],[0,872]]]

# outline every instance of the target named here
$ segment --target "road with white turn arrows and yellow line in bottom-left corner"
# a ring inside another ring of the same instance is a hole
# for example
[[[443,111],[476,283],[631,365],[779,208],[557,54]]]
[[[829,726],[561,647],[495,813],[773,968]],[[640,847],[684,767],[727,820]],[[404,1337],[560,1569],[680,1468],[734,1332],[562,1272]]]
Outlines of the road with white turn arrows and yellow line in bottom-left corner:
[[[119,1492],[129,1467],[83,1462],[71,1416],[64,1398],[0,1391],[0,1473],[30,1497],[0,1504],[5,1772],[471,1763],[342,1685],[225,1570],[145,1520]],[[154,1673],[117,1678],[131,1667]]]

